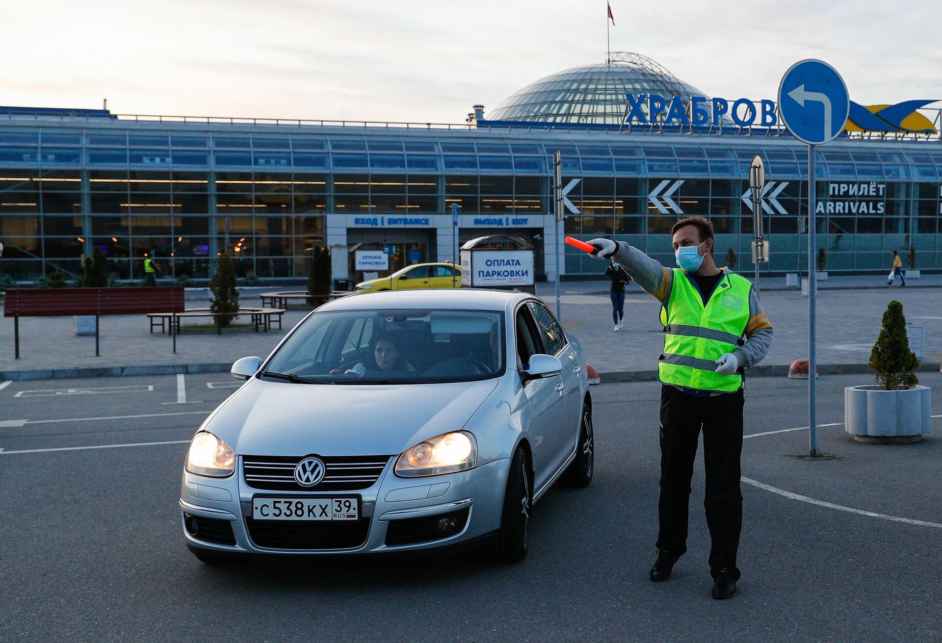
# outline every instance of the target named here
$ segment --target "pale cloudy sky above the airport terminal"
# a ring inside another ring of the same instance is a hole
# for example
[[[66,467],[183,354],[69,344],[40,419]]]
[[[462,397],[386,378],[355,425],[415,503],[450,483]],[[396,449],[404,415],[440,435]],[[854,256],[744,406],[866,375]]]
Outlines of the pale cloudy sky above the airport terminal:
[[[823,59],[860,104],[942,99],[938,0],[610,0],[611,50],[707,95],[775,98]],[[0,4],[0,104],[118,114],[463,122],[603,62],[605,0]],[[935,105],[942,106],[942,104]]]

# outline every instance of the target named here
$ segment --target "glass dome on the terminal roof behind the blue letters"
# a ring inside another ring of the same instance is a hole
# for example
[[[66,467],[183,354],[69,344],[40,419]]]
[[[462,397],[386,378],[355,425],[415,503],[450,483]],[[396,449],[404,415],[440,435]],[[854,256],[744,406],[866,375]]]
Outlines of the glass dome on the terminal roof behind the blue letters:
[[[625,116],[625,94],[656,93],[670,99],[706,96],[640,54],[612,53],[609,63],[574,67],[541,78],[513,94],[488,121],[615,124]],[[642,104],[647,116],[647,102]]]

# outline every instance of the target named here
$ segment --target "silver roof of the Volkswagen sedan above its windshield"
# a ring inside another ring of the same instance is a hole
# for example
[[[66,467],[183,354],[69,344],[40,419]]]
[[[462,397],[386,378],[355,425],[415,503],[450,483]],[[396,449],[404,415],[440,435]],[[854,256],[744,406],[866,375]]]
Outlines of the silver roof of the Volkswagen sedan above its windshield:
[[[503,311],[532,297],[518,290],[485,288],[422,288],[390,290],[381,293],[348,295],[329,301],[320,311],[351,311],[386,308],[453,308],[466,310]]]

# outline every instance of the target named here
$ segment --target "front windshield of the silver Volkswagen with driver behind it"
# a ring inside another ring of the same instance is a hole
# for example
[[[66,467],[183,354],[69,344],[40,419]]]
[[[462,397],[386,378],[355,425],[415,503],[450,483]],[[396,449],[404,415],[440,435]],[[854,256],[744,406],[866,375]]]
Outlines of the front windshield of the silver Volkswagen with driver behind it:
[[[308,317],[262,377],[295,384],[474,381],[502,375],[505,355],[501,312],[333,311]]]

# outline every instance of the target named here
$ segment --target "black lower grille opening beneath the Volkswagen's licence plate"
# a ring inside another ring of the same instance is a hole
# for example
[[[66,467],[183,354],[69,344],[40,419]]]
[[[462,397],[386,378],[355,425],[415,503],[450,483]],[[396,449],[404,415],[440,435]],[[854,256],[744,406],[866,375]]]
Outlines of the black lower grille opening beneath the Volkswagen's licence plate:
[[[355,521],[245,519],[252,542],[269,549],[352,549],[366,542],[369,522],[369,518]]]

